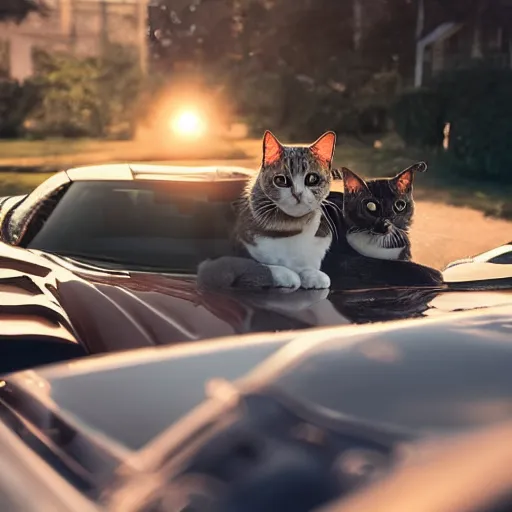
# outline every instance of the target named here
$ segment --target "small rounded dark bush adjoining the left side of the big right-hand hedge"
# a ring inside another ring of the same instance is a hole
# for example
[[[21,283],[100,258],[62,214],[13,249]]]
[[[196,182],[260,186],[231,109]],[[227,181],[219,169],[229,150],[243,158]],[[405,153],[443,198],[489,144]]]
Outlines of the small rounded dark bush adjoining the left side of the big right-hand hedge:
[[[437,92],[418,89],[393,105],[395,130],[408,146],[439,147],[443,141],[443,106]]]

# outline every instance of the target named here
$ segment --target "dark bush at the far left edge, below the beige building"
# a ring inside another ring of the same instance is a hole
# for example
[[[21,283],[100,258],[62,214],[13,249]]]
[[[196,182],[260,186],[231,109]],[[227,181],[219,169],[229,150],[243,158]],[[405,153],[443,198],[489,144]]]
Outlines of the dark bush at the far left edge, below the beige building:
[[[0,80],[0,138],[19,137],[27,115],[39,101],[39,89],[32,83]]]

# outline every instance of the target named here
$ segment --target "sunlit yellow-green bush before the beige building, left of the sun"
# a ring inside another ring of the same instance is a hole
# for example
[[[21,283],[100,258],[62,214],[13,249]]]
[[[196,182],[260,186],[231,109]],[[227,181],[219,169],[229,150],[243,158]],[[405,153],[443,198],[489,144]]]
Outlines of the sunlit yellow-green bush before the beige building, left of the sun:
[[[32,131],[44,136],[129,136],[141,76],[136,54],[112,46],[101,57],[36,55],[41,102]]]

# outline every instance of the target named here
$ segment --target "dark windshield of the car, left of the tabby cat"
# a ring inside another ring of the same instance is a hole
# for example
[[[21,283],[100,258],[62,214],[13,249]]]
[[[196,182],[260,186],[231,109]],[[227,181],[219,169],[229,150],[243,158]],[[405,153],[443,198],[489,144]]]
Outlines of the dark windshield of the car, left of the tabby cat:
[[[77,182],[29,248],[194,273],[204,259],[229,251],[234,213],[226,188],[222,182]]]

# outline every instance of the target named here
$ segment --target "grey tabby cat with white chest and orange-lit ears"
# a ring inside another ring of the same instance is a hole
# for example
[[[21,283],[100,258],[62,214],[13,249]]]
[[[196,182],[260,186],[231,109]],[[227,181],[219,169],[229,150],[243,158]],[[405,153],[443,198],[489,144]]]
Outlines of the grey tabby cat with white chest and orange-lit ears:
[[[329,288],[320,266],[332,233],[322,205],[335,144],[333,132],[310,146],[284,146],[265,132],[261,169],[238,205],[235,256],[201,263],[200,286]]]

